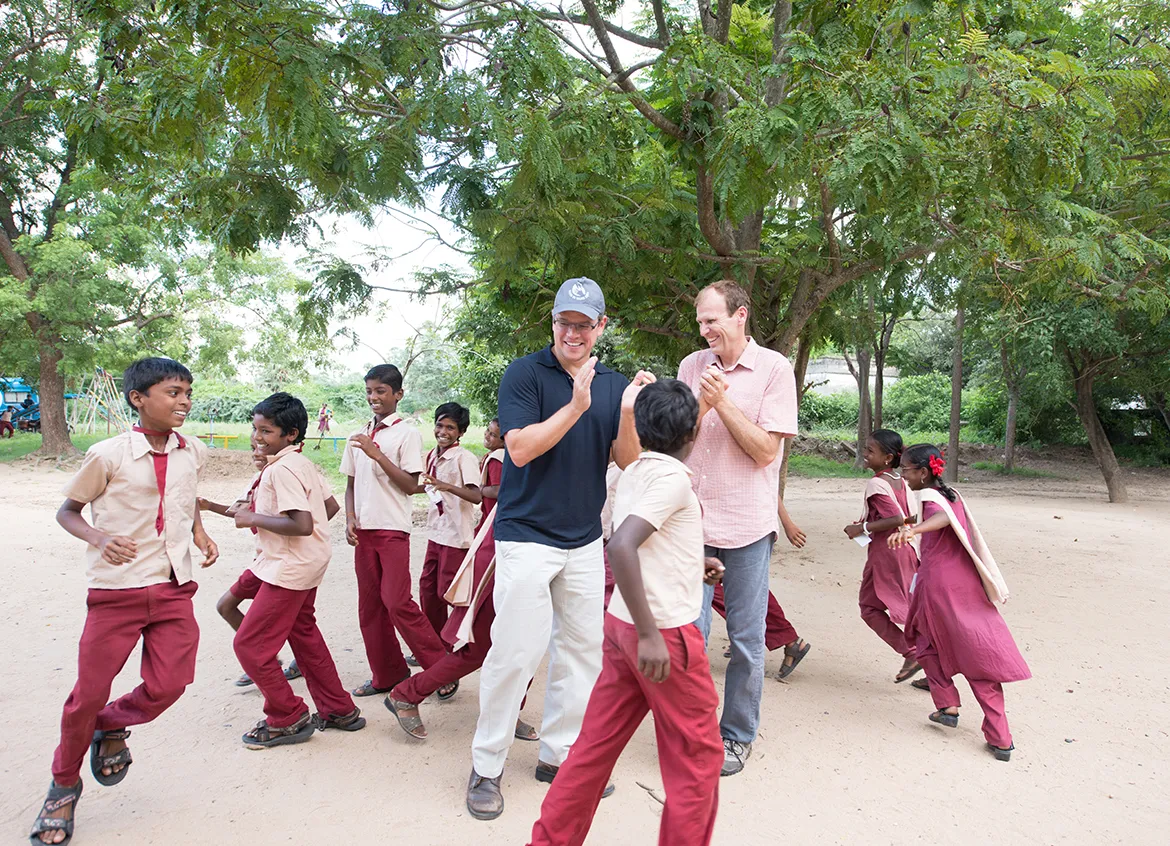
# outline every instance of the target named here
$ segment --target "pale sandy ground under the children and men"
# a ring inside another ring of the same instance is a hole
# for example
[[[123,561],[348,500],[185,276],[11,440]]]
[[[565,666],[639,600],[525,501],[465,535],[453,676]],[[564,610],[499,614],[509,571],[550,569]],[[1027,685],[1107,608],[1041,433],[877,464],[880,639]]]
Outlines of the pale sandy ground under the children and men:
[[[246,459],[245,459],[246,461]],[[247,465],[221,466],[201,493],[229,500]],[[49,782],[60,707],[75,679],[84,619],[82,545],[54,522],[64,474],[0,467],[0,831],[23,838]],[[979,710],[951,731],[927,722],[929,695],[894,686],[900,659],[861,623],[862,552],[841,527],[858,513],[855,480],[791,482],[790,510],[808,534],[786,546],[772,585],[813,651],[789,682],[769,679],[748,769],[721,783],[715,842],[1140,844],[1170,826],[1170,476],[1134,474],[1134,502],[1109,505],[1092,469],[1065,479],[975,479],[964,487],[1012,586],[1005,615],[1034,679],[1007,688],[1018,750],[1010,764],[983,750]],[[136,763],[117,789],[84,771],[74,842],[524,844],[545,787],[537,747],[516,743],[504,773],[507,811],[493,823],[463,806],[477,678],[450,702],[428,702],[419,744],[379,700],[369,727],[278,750],[248,751],[240,735],[261,717],[215,599],[249,559],[252,539],[212,515],[220,563],[195,597],[202,625],[198,678],[156,724],[135,730]],[[318,598],[342,678],[366,678],[352,555],[336,557]],[[415,534],[421,562],[422,535]],[[722,687],[724,632],[711,642]],[[769,658],[775,670],[779,658]],[[133,655],[115,690],[137,680]],[[304,682],[295,682],[303,692]],[[525,716],[539,724],[543,678]],[[649,720],[614,772],[590,844],[656,840],[662,795]],[[645,789],[644,786],[645,785]],[[649,789],[649,790],[647,790]]]

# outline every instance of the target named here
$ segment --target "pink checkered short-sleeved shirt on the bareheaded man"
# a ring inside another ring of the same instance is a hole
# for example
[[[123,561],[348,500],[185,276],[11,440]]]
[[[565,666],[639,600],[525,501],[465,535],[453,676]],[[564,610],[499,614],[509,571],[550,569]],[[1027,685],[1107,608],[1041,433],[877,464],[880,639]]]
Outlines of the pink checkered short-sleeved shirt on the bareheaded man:
[[[751,338],[739,360],[722,367],[710,350],[693,352],[679,365],[679,379],[698,396],[698,377],[714,364],[723,371],[728,399],[765,432],[791,438],[797,433],[797,383],[792,365],[780,353]],[[743,450],[715,411],[707,412],[695,447],[687,459],[691,484],[703,507],[703,543],[738,549],[779,532],[777,497],[780,455],[759,467]]]

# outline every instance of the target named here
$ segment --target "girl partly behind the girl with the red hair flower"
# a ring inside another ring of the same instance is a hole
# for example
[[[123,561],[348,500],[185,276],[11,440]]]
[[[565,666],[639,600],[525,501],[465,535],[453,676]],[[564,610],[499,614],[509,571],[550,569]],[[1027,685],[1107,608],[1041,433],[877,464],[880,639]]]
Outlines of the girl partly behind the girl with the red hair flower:
[[[848,537],[868,538],[862,541],[867,544],[866,568],[858,604],[865,624],[903,659],[894,676],[897,685],[922,669],[914,656],[914,642],[899,627],[906,624],[910,608],[910,582],[918,569],[918,551],[913,544],[892,549],[887,543],[917,508],[897,469],[901,458],[902,436],[897,432],[875,429],[869,435],[865,460],[874,475],[866,483],[861,518],[845,527]],[[911,685],[929,689],[921,679]]]

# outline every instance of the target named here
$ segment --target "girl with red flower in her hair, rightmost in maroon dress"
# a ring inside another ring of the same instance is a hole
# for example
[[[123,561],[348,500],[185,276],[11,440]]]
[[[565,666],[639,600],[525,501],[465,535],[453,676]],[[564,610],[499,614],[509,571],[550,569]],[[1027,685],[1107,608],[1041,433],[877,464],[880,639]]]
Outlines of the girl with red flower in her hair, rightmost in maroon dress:
[[[1004,714],[1007,681],[1031,679],[996,603],[1007,599],[996,559],[957,490],[942,480],[947,459],[928,443],[902,454],[902,477],[918,494],[915,525],[889,537],[890,549],[921,538],[918,573],[910,596],[906,635],[927,672],[935,710],[930,721],[958,727],[963,675],[983,709],[983,736],[998,761],[1010,761],[1012,735]]]

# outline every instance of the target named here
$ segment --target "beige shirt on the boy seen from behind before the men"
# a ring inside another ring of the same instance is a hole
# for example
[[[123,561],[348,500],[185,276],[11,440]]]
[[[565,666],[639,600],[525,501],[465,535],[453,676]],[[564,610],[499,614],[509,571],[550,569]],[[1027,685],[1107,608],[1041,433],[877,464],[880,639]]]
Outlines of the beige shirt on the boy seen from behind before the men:
[[[687,466],[663,453],[642,453],[618,480],[614,529],[627,517],[641,517],[656,529],[638,548],[655,625],[676,628],[694,623],[703,606],[703,521]],[[620,587],[613,591],[610,613],[634,621]]]

